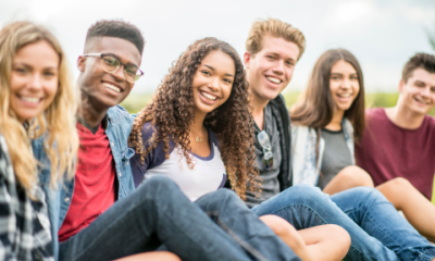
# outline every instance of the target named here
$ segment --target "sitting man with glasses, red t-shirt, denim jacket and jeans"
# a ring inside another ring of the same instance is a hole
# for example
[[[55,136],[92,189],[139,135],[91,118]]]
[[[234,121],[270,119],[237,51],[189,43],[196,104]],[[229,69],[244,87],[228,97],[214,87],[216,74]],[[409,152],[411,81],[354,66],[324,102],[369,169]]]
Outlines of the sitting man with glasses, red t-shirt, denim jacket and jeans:
[[[59,260],[300,260],[229,190],[197,204],[167,177],[135,189],[129,164],[135,152],[127,147],[133,120],[117,104],[142,75],[144,44],[138,28],[122,21],[100,21],[88,30],[77,60],[83,102],[76,171],[48,199]],[[51,162],[42,141],[34,142],[34,152],[47,177]],[[170,252],[154,251],[160,245]]]

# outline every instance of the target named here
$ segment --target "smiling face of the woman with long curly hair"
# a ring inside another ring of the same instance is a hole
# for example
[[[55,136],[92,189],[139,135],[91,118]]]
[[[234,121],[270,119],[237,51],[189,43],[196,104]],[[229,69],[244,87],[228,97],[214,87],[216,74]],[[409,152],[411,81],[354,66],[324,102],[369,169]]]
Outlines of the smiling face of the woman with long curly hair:
[[[192,80],[196,113],[209,113],[229,97],[236,75],[233,58],[221,50],[211,51],[198,66]]]

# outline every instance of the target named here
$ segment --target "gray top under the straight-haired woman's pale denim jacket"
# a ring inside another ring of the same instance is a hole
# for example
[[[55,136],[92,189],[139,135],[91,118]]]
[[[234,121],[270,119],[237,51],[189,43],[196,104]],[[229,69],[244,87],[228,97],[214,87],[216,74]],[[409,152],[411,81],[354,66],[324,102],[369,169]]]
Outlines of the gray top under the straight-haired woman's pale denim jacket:
[[[322,129],[321,136],[325,140],[325,149],[318,186],[323,189],[338,172],[352,165],[352,157],[346,145],[343,129],[338,132]]]

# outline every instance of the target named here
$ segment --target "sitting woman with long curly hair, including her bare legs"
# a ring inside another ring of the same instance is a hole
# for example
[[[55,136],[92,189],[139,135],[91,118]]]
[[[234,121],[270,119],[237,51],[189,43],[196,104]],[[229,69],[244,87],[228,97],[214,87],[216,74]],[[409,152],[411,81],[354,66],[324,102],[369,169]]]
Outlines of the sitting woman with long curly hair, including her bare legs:
[[[236,50],[215,38],[197,40],[135,119],[129,137],[136,151],[130,160],[135,185],[167,176],[191,201],[201,202],[201,197],[229,179],[244,198],[248,182],[251,191],[259,184],[252,124],[248,84]],[[347,233],[334,225],[306,231],[312,238],[306,247],[296,229],[281,217],[265,215],[260,220],[302,260],[338,260],[349,249]]]

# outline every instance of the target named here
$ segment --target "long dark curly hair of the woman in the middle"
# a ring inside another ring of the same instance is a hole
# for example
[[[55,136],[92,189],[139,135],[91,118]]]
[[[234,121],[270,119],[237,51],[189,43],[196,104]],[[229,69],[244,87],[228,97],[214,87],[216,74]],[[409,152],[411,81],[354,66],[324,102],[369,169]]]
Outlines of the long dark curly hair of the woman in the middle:
[[[261,179],[254,161],[253,121],[249,111],[248,82],[240,58],[225,41],[208,37],[195,41],[187,48],[159,85],[152,100],[135,119],[128,142],[136,153],[140,154],[139,162],[144,162],[146,156],[159,142],[163,142],[169,159],[171,137],[175,146],[181,146],[188,166],[194,167],[195,164],[189,157],[191,151],[189,130],[195,117],[192,80],[202,59],[214,50],[223,51],[233,59],[236,75],[228,99],[207,114],[204,124],[219,138],[221,157],[232,188],[245,199],[247,183],[250,191],[258,192],[261,190]],[[145,151],[141,130],[147,122],[151,123],[156,133],[148,150]]]

